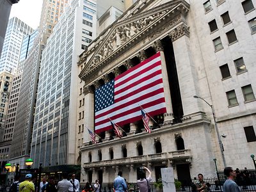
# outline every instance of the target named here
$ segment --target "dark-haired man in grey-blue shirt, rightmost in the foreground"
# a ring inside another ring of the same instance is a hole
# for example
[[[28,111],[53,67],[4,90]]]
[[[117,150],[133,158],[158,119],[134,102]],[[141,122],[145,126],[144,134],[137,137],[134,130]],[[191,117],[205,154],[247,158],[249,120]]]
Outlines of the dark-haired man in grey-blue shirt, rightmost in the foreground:
[[[232,167],[228,166],[224,169],[224,174],[227,176],[223,184],[223,192],[241,192],[239,186],[237,186],[234,180],[236,179],[236,171]]]

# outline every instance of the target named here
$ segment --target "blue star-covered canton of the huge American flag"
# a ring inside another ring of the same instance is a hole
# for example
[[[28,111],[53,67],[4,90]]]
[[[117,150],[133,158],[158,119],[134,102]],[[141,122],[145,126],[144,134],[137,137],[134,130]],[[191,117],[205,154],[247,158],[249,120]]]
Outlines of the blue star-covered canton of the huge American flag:
[[[114,104],[114,83],[112,80],[95,90],[95,112]]]

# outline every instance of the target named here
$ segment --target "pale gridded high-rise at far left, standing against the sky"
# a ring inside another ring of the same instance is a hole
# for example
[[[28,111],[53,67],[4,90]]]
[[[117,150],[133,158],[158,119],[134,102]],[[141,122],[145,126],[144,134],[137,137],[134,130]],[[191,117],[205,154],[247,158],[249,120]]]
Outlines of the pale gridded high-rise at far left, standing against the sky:
[[[33,28],[17,17],[9,20],[4,38],[3,50],[0,58],[0,71],[15,74],[19,63],[19,54],[22,39],[32,33]]]

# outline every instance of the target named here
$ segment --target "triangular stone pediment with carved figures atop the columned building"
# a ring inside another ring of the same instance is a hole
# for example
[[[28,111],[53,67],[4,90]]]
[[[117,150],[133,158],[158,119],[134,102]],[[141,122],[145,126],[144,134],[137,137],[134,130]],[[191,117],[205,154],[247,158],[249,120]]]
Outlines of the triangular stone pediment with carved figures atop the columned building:
[[[106,62],[115,52],[125,49],[128,44],[132,44],[140,39],[141,35],[145,35],[148,31],[156,30],[157,24],[168,18],[169,20],[179,15],[181,12],[188,12],[189,4],[184,0],[170,1],[159,6],[152,7],[148,10],[136,12],[132,15],[124,15],[108,29],[102,33],[93,46],[81,56],[80,62],[84,58],[90,56],[90,60],[86,62],[79,77],[84,77],[99,67],[100,63]]]

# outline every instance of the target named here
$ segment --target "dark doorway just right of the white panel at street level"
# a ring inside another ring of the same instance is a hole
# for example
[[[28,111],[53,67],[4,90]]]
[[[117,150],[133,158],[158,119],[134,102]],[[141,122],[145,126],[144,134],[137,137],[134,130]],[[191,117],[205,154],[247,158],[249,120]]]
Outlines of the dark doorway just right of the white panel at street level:
[[[182,182],[184,186],[188,186],[190,184],[190,171],[189,164],[177,164],[177,176],[178,180]]]

